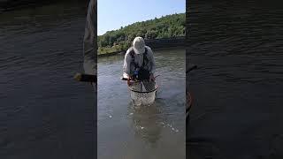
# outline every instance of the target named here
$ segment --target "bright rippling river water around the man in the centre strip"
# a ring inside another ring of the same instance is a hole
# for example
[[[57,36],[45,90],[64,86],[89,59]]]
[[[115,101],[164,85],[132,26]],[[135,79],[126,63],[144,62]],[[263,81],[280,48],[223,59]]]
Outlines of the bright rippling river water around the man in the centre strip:
[[[156,102],[135,107],[124,56],[98,58],[98,158],[185,158],[185,49],[158,49]]]

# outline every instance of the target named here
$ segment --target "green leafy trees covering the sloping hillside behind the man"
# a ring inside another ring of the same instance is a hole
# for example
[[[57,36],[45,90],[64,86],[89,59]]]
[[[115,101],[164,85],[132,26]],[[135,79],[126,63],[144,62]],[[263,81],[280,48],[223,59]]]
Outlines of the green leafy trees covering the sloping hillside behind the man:
[[[98,36],[98,53],[125,50],[136,36],[142,36],[145,40],[185,36],[185,25],[185,13],[176,13],[120,27]]]

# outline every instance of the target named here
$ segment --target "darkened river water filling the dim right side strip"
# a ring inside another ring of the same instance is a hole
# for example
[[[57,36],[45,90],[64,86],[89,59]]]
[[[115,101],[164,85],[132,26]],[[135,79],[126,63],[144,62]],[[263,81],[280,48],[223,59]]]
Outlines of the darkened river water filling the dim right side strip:
[[[191,158],[282,158],[283,10],[275,1],[191,1]]]

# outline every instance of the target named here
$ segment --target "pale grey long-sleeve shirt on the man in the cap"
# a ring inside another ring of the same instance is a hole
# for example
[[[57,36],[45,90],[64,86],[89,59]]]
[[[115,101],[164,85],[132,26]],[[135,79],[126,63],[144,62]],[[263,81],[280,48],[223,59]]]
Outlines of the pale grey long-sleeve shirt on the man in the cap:
[[[148,49],[147,57],[149,59],[149,63],[147,63],[145,66],[149,68],[149,72],[154,74],[156,71],[156,61],[153,56],[153,51],[149,48],[149,46],[146,46],[146,49]],[[131,50],[132,48],[126,50],[126,55],[124,59],[123,76],[125,78],[131,77],[134,73],[134,64],[132,64],[133,59],[130,54]],[[143,62],[143,56],[143,54],[134,53],[134,63],[138,64],[141,67]]]

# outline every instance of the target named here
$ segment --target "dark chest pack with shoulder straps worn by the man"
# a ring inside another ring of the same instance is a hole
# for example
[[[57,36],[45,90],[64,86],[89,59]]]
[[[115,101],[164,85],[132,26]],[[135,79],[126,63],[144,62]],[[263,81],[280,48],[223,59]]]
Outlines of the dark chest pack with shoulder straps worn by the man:
[[[148,49],[145,48],[145,52],[143,53],[143,60],[142,60],[142,66],[140,67],[139,64],[135,63],[134,60],[134,49],[130,51],[130,55],[132,57],[132,63],[134,64],[134,73],[133,73],[133,79],[137,80],[146,80],[149,79],[149,68],[148,68],[148,63],[149,63],[149,58],[148,58]]]

